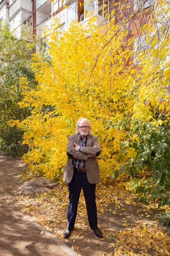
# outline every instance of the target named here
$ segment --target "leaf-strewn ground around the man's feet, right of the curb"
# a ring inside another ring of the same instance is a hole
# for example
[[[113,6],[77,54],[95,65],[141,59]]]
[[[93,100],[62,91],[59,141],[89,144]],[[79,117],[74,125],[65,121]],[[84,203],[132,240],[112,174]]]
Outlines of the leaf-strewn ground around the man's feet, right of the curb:
[[[74,232],[69,240],[63,239],[63,231],[67,226],[68,187],[62,183],[58,189],[35,195],[34,198],[19,196],[17,204],[59,239],[71,241],[72,249],[82,256],[90,255],[89,251],[94,256],[95,253],[97,256],[99,253],[107,256],[170,256],[170,239],[166,231],[156,221],[152,221],[155,206],[134,203],[133,197],[132,193],[129,195],[116,185],[96,186],[99,227],[103,239],[95,236],[89,239],[89,233],[86,234],[90,228],[82,192]]]

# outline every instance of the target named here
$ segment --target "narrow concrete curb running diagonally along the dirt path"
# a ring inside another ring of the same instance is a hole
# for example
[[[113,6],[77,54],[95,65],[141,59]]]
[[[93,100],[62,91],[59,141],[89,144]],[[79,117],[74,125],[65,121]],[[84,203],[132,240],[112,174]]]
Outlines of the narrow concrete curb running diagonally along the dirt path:
[[[79,256],[78,253],[74,252],[70,247],[68,247],[64,242],[59,240],[56,236],[52,235],[49,231],[47,231],[44,227],[42,227],[37,221],[35,221],[31,216],[29,216],[26,213],[23,213],[24,218],[31,222],[35,227],[37,227],[39,230],[43,231],[45,235],[50,236],[51,239],[54,240],[54,242],[65,252],[68,253],[69,256]]]

